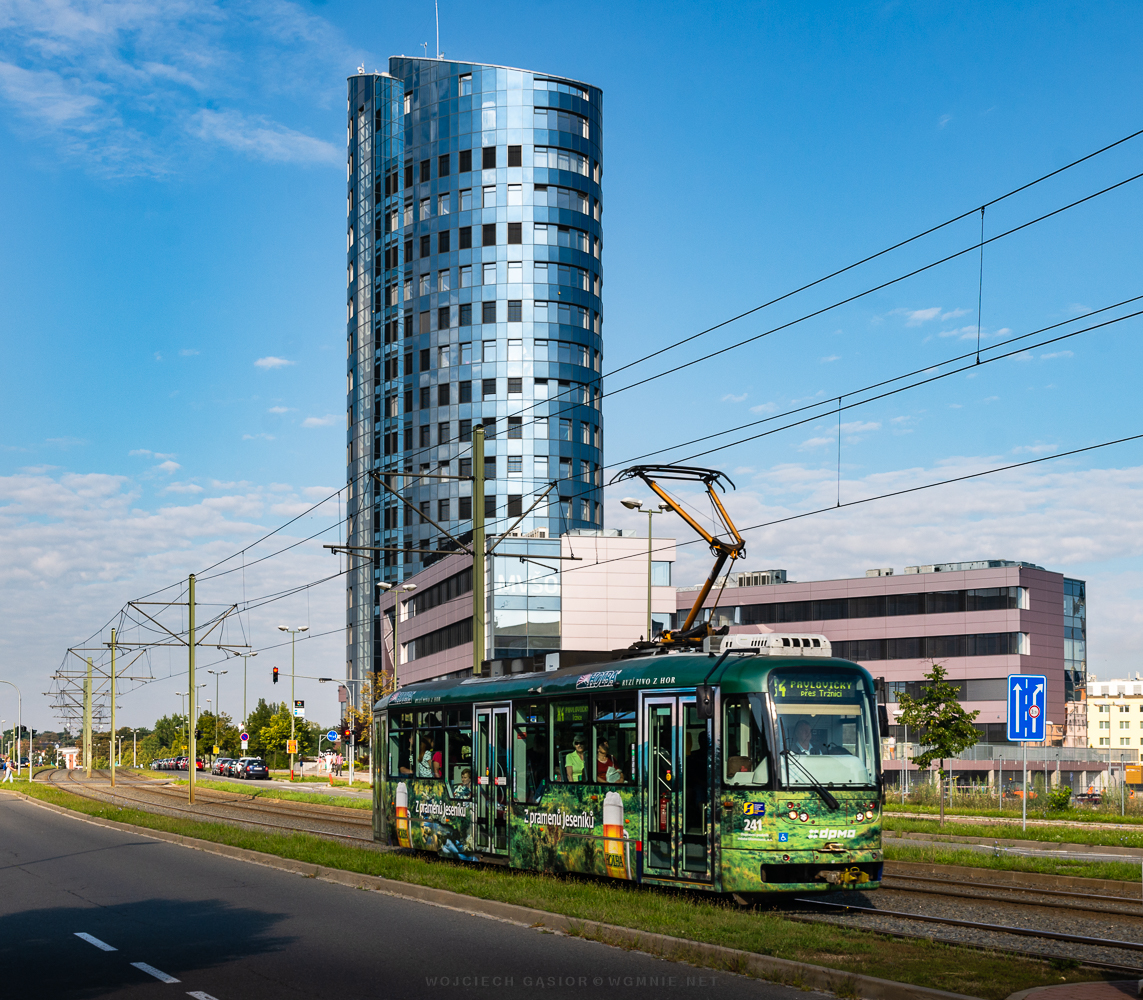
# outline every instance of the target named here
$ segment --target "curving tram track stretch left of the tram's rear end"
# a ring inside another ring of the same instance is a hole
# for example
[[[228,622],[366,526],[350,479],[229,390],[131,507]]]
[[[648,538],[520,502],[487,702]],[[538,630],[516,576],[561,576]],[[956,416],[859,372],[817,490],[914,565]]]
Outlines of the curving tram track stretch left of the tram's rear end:
[[[191,806],[186,802],[185,786],[157,784],[133,775],[127,779],[127,789],[119,784],[112,787],[106,778],[86,781],[77,771],[64,768],[51,771],[47,782],[91,801],[125,805],[149,813],[230,823],[275,833],[312,833],[358,847],[374,845],[373,817],[366,810],[360,810],[363,815],[353,815],[358,810],[310,802],[285,802],[261,795],[239,798],[241,793],[209,789],[197,790],[197,801]]]

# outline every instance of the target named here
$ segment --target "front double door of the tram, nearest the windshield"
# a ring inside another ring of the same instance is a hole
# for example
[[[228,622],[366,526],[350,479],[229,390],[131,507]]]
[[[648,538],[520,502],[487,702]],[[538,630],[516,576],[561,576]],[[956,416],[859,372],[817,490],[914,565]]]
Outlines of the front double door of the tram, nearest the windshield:
[[[711,736],[693,695],[642,702],[646,746],[646,845],[649,875],[710,881]]]

